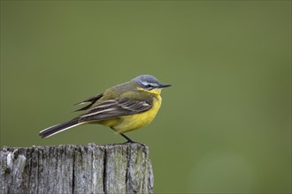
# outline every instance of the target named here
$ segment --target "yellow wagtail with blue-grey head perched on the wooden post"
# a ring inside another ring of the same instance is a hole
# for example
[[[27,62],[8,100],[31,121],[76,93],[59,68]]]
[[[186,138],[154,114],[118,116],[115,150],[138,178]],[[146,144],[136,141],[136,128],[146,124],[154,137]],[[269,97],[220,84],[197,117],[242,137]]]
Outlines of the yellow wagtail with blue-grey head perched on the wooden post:
[[[134,142],[123,133],[134,131],[152,122],[161,105],[161,89],[171,85],[160,84],[150,75],[138,76],[127,83],[113,86],[75,105],[88,103],[76,111],[87,110],[72,120],[40,131],[42,138],[55,135],[85,123],[97,123],[111,127],[128,142]]]

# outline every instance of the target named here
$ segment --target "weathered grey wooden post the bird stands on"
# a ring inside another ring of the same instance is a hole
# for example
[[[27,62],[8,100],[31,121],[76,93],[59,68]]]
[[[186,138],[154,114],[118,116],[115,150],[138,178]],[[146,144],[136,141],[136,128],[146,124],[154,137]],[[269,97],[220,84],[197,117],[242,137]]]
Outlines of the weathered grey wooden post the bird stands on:
[[[0,193],[152,193],[147,146],[2,147]]]

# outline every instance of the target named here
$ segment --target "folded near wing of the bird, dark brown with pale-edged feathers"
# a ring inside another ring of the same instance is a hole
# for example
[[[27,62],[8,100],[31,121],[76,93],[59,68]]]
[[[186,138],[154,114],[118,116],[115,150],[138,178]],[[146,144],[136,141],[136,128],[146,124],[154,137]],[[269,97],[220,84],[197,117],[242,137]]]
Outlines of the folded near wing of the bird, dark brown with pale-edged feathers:
[[[82,122],[101,121],[142,113],[152,107],[152,101],[108,100],[79,116]]]

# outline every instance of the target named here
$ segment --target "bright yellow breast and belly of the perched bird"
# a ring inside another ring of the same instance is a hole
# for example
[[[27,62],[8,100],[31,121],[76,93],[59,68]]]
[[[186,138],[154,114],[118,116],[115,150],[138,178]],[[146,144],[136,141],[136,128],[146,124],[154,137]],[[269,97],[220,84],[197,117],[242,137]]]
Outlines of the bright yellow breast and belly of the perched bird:
[[[112,126],[112,128],[118,133],[125,133],[142,128],[152,122],[160,106],[161,97],[158,95],[158,99],[153,101],[153,107],[150,108],[150,110],[132,116],[123,116],[120,118],[119,122],[113,123],[114,126]]]

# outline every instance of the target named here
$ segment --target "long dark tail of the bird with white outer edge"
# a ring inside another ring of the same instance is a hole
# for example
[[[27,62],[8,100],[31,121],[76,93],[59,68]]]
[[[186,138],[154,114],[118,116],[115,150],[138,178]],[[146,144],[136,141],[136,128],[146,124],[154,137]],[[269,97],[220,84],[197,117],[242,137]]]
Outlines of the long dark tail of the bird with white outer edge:
[[[48,138],[52,135],[57,134],[58,132],[69,130],[70,128],[73,128],[81,124],[82,123],[78,122],[78,119],[73,119],[71,121],[68,121],[65,123],[59,123],[47,129],[44,129],[43,131],[40,131],[39,135],[41,136],[41,138]]]

